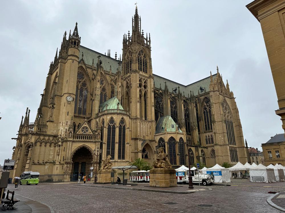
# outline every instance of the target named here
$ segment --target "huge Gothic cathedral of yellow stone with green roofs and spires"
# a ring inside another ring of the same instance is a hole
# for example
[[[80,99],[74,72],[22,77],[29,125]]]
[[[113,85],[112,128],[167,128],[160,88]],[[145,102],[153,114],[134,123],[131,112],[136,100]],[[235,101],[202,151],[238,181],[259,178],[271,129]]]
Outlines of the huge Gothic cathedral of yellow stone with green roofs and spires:
[[[50,64],[35,120],[28,108],[22,117],[13,177],[86,174],[109,154],[113,166],[152,163],[159,147],[174,168],[188,165],[188,155],[190,164],[206,166],[247,162],[235,97],[218,67],[189,85],[153,74],[150,34],[141,30],[137,7],[122,56],[80,42],[76,23]]]

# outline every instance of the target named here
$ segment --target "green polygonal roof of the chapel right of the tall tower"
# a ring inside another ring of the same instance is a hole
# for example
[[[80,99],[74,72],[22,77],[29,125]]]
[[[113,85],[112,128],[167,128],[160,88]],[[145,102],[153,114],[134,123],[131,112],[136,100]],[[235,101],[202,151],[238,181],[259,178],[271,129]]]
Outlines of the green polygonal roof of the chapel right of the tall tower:
[[[165,128],[167,132],[176,132],[176,126],[178,127],[170,115],[160,117],[156,123],[155,134],[165,132]],[[179,127],[178,132],[182,133]]]

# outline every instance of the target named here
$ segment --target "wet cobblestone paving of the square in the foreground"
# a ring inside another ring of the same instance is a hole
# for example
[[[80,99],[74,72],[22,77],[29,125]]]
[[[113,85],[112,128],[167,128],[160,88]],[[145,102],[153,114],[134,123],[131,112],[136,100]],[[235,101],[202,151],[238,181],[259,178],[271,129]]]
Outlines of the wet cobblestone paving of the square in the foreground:
[[[248,182],[240,182],[246,185]],[[275,187],[207,186],[213,190],[170,194],[68,184],[21,185],[17,194],[48,204],[54,212],[281,212],[266,199]],[[233,183],[231,183],[233,184]],[[267,185],[264,183],[264,185]],[[9,185],[12,189],[13,186]],[[260,189],[261,188],[261,189]],[[281,191],[281,190],[280,190]],[[285,191],[285,190],[284,190]],[[204,205],[211,206],[204,206]]]

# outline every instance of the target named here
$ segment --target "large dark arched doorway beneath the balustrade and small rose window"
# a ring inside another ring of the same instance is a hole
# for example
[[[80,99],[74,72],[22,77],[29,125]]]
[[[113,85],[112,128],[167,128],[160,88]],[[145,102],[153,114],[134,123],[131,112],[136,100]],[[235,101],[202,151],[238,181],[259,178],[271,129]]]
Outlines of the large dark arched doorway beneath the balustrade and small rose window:
[[[79,148],[72,156],[73,176],[78,177],[79,174],[86,175],[90,172],[90,166],[93,166],[93,156],[86,147]]]

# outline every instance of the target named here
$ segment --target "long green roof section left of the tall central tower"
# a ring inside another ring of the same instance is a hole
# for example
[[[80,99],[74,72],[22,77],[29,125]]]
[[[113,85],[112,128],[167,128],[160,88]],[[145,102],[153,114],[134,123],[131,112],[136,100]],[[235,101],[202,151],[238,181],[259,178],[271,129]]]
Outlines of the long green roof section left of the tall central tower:
[[[85,62],[85,64],[88,64],[88,65],[92,65],[92,60],[94,59],[94,66],[96,67],[96,64],[97,64],[97,60],[98,60],[98,56],[100,55],[101,56],[101,61],[102,61],[102,66],[104,68],[104,70],[106,71],[109,71],[110,70],[110,66],[111,66],[111,70],[112,70],[112,73],[116,74],[117,72],[117,68],[118,68],[118,63],[120,62],[119,60],[116,60],[116,59],[113,59],[107,55],[104,55],[104,54],[101,54],[101,53],[98,53],[94,50],[91,50],[87,47],[83,47],[83,46],[79,46],[79,55],[80,55],[80,58],[81,58],[81,54],[83,52],[83,60]],[[115,53],[114,53],[115,55]],[[119,57],[118,57],[119,58]],[[121,62],[122,63],[122,62]]]

